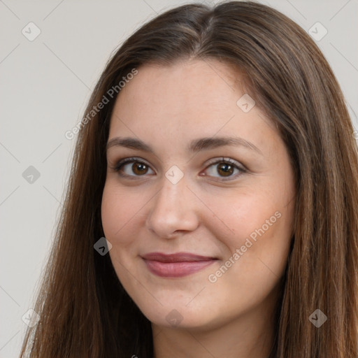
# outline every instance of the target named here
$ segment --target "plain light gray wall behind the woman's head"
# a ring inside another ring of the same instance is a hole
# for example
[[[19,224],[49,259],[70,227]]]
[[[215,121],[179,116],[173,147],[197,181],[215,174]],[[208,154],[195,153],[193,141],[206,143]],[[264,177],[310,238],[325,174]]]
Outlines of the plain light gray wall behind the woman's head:
[[[358,0],[260,2],[306,31],[316,22],[328,30],[317,43],[358,129]],[[50,250],[75,143],[64,133],[83,116],[110,53],[143,22],[182,3],[0,0],[0,357],[20,353],[22,316]],[[34,41],[22,34],[29,22],[41,29]],[[32,184],[22,177],[29,166],[41,174]]]

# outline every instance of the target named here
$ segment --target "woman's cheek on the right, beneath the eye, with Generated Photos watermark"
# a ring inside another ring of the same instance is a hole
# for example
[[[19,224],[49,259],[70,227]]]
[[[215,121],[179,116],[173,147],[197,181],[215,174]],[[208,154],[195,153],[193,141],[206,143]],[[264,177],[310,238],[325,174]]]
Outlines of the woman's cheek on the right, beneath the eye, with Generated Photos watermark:
[[[210,231],[222,243],[223,259],[241,262],[234,266],[248,271],[267,262],[279,273],[285,266],[291,237],[294,201],[287,205],[289,197],[289,192],[258,187],[236,196],[210,196],[210,209],[215,213]]]

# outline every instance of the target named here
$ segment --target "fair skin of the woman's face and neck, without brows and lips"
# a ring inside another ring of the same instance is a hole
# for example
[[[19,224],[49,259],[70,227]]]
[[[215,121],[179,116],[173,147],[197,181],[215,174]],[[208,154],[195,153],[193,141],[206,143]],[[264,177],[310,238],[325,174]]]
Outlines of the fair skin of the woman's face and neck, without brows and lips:
[[[239,83],[216,60],[145,65],[115,103],[108,142],[130,137],[152,152],[108,146],[103,230],[120,282],[152,322],[156,358],[266,358],[271,350],[292,238],[294,174],[273,123],[258,106],[245,113],[236,104],[245,94]],[[257,149],[236,143],[188,150],[199,138],[232,136]],[[129,157],[136,159],[113,169]],[[211,261],[163,277],[143,259],[150,252]]]

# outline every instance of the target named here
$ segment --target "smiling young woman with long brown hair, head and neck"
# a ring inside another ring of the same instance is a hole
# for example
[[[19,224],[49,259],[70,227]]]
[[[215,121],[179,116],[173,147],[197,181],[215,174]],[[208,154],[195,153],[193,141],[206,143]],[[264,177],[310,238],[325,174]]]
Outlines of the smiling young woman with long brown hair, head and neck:
[[[297,24],[169,10],[78,128],[21,357],[357,358],[357,143]]]

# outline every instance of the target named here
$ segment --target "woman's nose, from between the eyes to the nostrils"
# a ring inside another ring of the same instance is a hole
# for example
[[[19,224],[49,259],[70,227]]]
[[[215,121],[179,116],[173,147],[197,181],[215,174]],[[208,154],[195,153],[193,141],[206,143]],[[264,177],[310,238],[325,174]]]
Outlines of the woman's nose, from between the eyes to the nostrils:
[[[161,238],[174,238],[199,227],[199,203],[185,177],[176,184],[163,178],[162,189],[150,201],[146,225]]]

